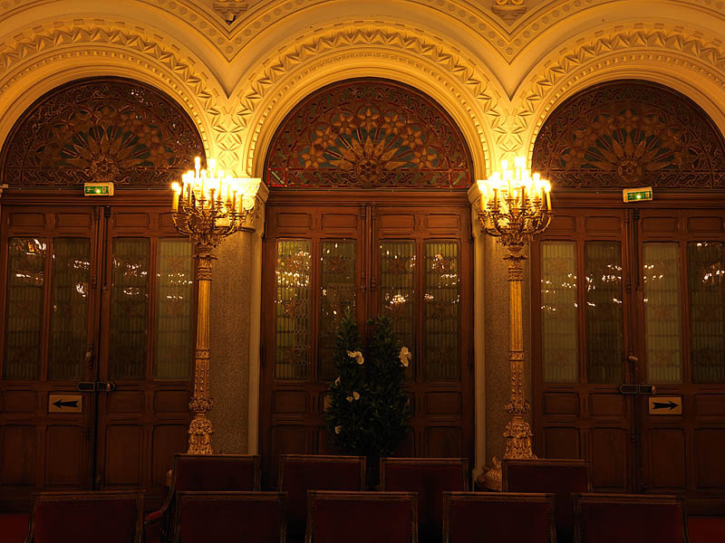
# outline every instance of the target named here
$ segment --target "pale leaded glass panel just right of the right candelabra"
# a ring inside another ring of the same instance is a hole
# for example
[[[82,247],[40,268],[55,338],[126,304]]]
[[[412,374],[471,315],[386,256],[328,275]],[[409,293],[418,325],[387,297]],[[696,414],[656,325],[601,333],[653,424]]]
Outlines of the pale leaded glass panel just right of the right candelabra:
[[[576,329],[576,245],[541,243],[541,352],[544,381],[579,378]]]

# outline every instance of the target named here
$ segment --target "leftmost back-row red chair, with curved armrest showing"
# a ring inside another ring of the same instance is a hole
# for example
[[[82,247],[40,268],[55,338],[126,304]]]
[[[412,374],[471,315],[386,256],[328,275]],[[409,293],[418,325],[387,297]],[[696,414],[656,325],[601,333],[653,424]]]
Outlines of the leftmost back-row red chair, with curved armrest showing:
[[[162,541],[173,538],[174,504],[181,491],[258,491],[260,458],[257,454],[175,454],[174,471],[161,509],[146,516],[147,533],[160,523]]]

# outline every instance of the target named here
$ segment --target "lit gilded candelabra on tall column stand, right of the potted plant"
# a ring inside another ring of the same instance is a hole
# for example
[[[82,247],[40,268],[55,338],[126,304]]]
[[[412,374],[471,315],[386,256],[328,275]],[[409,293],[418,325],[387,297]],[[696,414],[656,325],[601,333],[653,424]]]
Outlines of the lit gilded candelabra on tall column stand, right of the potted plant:
[[[521,283],[524,246],[536,233],[543,232],[551,221],[551,186],[538,174],[531,176],[526,159],[517,157],[514,168],[507,161],[501,162],[502,172],[496,172],[488,180],[478,181],[481,193],[478,220],[481,229],[507,248],[504,260],[508,262],[509,332],[508,362],[510,367],[510,391],[506,411],[511,419],[506,425],[506,452],[504,458],[534,459],[531,450],[531,426],[524,419],[530,406],[524,392],[524,332],[521,315]],[[500,462],[494,458],[494,468],[486,479],[488,486],[500,485]]]

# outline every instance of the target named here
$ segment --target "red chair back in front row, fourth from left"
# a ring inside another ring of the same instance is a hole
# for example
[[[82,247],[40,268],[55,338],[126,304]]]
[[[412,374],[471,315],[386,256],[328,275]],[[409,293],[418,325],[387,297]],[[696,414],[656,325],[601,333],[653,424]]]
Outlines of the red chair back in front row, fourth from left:
[[[443,543],[479,541],[554,543],[554,495],[443,492]]]

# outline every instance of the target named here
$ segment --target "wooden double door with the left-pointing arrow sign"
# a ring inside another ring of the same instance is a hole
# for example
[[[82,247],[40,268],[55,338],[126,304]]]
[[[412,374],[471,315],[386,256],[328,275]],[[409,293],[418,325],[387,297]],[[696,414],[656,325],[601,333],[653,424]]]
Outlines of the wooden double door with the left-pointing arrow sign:
[[[8,193],[0,500],[144,487],[152,504],[186,451],[192,246],[148,193],[112,206]]]

